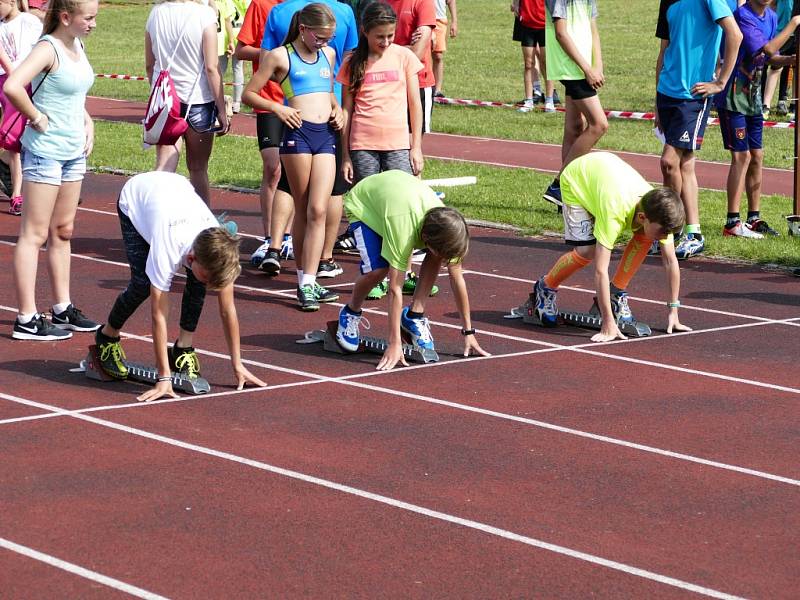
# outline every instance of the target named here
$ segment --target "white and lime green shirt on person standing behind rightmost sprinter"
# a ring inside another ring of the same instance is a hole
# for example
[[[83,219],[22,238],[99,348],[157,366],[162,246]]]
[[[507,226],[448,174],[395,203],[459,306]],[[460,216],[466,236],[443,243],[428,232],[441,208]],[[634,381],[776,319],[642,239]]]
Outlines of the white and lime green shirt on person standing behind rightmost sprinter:
[[[553,80],[585,79],[586,74],[575,64],[556,39],[553,19],[567,22],[567,33],[580,55],[589,64],[592,61],[592,19],[597,18],[596,0],[545,0],[545,51],[547,53],[547,78]]]

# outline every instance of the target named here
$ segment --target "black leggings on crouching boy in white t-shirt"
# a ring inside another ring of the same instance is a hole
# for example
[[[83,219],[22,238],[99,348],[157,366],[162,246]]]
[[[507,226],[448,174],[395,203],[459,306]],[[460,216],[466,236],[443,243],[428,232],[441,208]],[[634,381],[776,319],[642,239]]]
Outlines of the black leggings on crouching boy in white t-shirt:
[[[131,266],[131,280],[128,282],[128,287],[117,296],[108,315],[108,324],[114,329],[122,329],[139,305],[150,297],[150,278],[145,272],[150,244],[136,231],[127,215],[119,209],[119,203],[117,203],[117,214],[122,230],[122,241],[125,244],[125,254]],[[191,269],[186,269],[186,286],[183,288],[181,301],[181,329],[190,332],[197,329],[205,298],[206,286],[197,280]]]

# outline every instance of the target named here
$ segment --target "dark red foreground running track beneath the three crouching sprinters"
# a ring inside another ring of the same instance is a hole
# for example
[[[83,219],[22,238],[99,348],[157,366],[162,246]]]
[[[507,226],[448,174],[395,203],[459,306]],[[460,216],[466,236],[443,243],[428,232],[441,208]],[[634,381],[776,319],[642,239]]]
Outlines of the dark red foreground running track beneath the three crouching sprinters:
[[[76,223],[73,299],[99,319],[127,280],[123,182],[90,175]],[[246,235],[256,204],[214,194]],[[0,216],[5,264],[18,225]],[[696,332],[666,336],[663,271],[648,261],[632,308],[655,335],[595,345],[580,329],[503,319],[560,243],[472,235],[473,321],[493,357],[377,373],[377,357],[298,345],[337,307],[300,313],[293,273],[245,267],[243,355],[270,387],[231,388],[211,295],[196,345],[212,394],[177,402],[138,404],[139,386],[71,373],[89,335],[12,341],[6,294],[3,596],[794,597],[797,281],[692,261],[682,318]],[[243,259],[256,245],[245,237]],[[333,285],[346,300],[357,265],[341,260]],[[12,289],[9,269],[0,284]],[[426,312],[453,348],[459,322],[440,284]],[[580,273],[561,305],[588,306],[590,288]],[[376,335],[385,309],[370,308]],[[126,327],[143,362],[148,321],[143,307]]]

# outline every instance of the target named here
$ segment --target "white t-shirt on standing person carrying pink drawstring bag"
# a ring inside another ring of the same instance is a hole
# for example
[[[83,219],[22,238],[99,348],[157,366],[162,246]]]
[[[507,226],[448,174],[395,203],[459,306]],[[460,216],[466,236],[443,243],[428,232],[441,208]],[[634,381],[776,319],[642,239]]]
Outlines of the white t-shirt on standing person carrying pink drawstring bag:
[[[216,27],[216,23],[214,10],[197,2],[156,4],[147,18],[145,31],[156,57],[153,80],[159,71],[168,69],[184,104],[214,101],[203,60],[203,30],[209,25]]]

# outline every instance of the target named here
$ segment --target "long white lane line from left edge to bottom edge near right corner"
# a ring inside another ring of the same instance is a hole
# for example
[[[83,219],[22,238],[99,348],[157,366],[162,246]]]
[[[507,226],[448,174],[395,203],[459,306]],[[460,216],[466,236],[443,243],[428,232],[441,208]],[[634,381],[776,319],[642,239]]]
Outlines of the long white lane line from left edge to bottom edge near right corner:
[[[181,440],[177,440],[175,438],[166,437],[163,435],[158,435],[155,433],[151,433],[149,431],[145,431],[142,429],[137,429],[134,427],[128,427],[127,425],[121,425],[119,423],[115,423],[113,421],[106,421],[105,419],[98,419],[96,417],[91,417],[88,415],[82,414],[74,414],[70,413],[69,411],[65,411],[57,406],[51,406],[48,404],[43,404],[40,402],[34,402],[32,400],[26,400],[25,398],[20,398],[18,396],[11,396],[9,394],[1,393],[0,397],[5,398],[11,402],[16,402],[19,404],[24,404],[27,406],[33,406],[35,408],[39,408],[42,410],[50,410],[53,412],[61,412],[64,413],[65,416],[72,417],[74,419],[79,419],[81,421],[86,421],[88,423],[93,423],[95,425],[99,425],[101,427],[107,427],[109,429],[114,429],[117,431],[122,431],[124,433],[128,433],[131,435],[143,437],[145,439],[153,440],[155,442],[160,442],[162,444],[167,444],[169,446],[173,446],[176,448],[181,448],[183,450],[188,450],[190,452],[196,452],[199,454],[204,454],[206,456],[212,456],[214,458],[219,458],[222,460],[235,462],[238,464],[246,465],[255,469],[259,469],[261,471],[266,471],[269,473],[273,473],[275,475],[280,475],[283,477],[288,477],[297,481],[302,481],[304,483],[308,483],[311,485],[320,486],[323,488],[327,488],[330,490],[334,490],[337,492],[341,492],[344,494],[349,494],[351,496],[356,496],[358,498],[363,498],[365,500],[370,500],[372,502],[377,502],[383,504],[385,506],[391,506],[392,508],[397,508],[400,510],[408,511],[411,513],[415,513],[418,515],[422,515],[425,517],[429,517],[432,519],[437,519],[439,521],[444,521],[447,523],[452,523],[454,525],[460,525],[462,527],[466,527],[469,529],[473,529],[476,531],[481,531],[483,533],[493,535],[496,537],[500,537],[503,539],[511,540],[514,542],[519,542],[522,544],[526,544],[528,546],[532,546],[534,548],[539,548],[541,550],[546,550],[548,552],[553,552],[555,554],[559,554],[562,556],[567,556],[569,558],[573,558],[576,560],[580,560],[583,562],[587,562],[590,564],[598,565],[601,567],[606,567],[608,569],[612,569],[615,571],[619,571],[625,573],[627,575],[632,575],[634,577],[640,577],[643,579],[647,579],[650,581],[655,581],[658,583],[662,583],[664,585],[669,585],[678,589],[695,592],[697,594],[703,594],[705,596],[710,596],[712,598],[726,598],[726,599],[733,599],[737,598],[731,594],[727,594],[725,592],[721,592],[719,590],[703,587],[694,583],[690,583],[687,581],[683,581],[681,579],[676,579],[674,577],[668,577],[666,575],[662,575],[660,573],[656,573],[653,571],[648,571],[646,569],[641,569],[639,567],[634,567],[632,565],[628,565],[626,563],[617,562],[614,560],[609,560],[606,558],[602,558],[600,556],[589,554],[586,552],[581,552],[579,550],[574,550],[572,548],[568,548],[566,546],[560,546],[557,544],[551,544],[549,542],[545,542],[543,540],[539,540],[536,538],[528,537],[519,533],[515,533],[513,531],[509,531],[507,529],[501,529],[499,527],[494,527],[492,525],[488,525],[486,523],[481,523],[479,521],[473,521],[472,519],[465,519],[462,517],[457,517],[455,515],[451,515],[448,513],[444,513],[438,510],[433,510],[418,504],[412,504],[410,502],[405,502],[403,500],[398,500],[395,498],[391,498],[389,496],[384,496],[382,494],[376,494],[373,492],[368,492],[366,490],[362,490],[359,488],[355,488],[349,485],[344,485],[341,483],[336,483],[335,481],[330,481],[328,479],[322,479],[320,477],[315,477],[313,475],[307,475],[305,473],[301,473],[299,471],[294,471],[291,469],[285,469],[283,467],[278,467],[275,465],[271,465],[268,463],[264,463],[261,461],[245,458],[243,456],[238,456],[236,454],[231,454],[229,452],[222,452],[220,450],[214,450],[212,448],[207,448],[205,446],[199,446],[197,444],[191,444],[189,442],[184,442]]]

